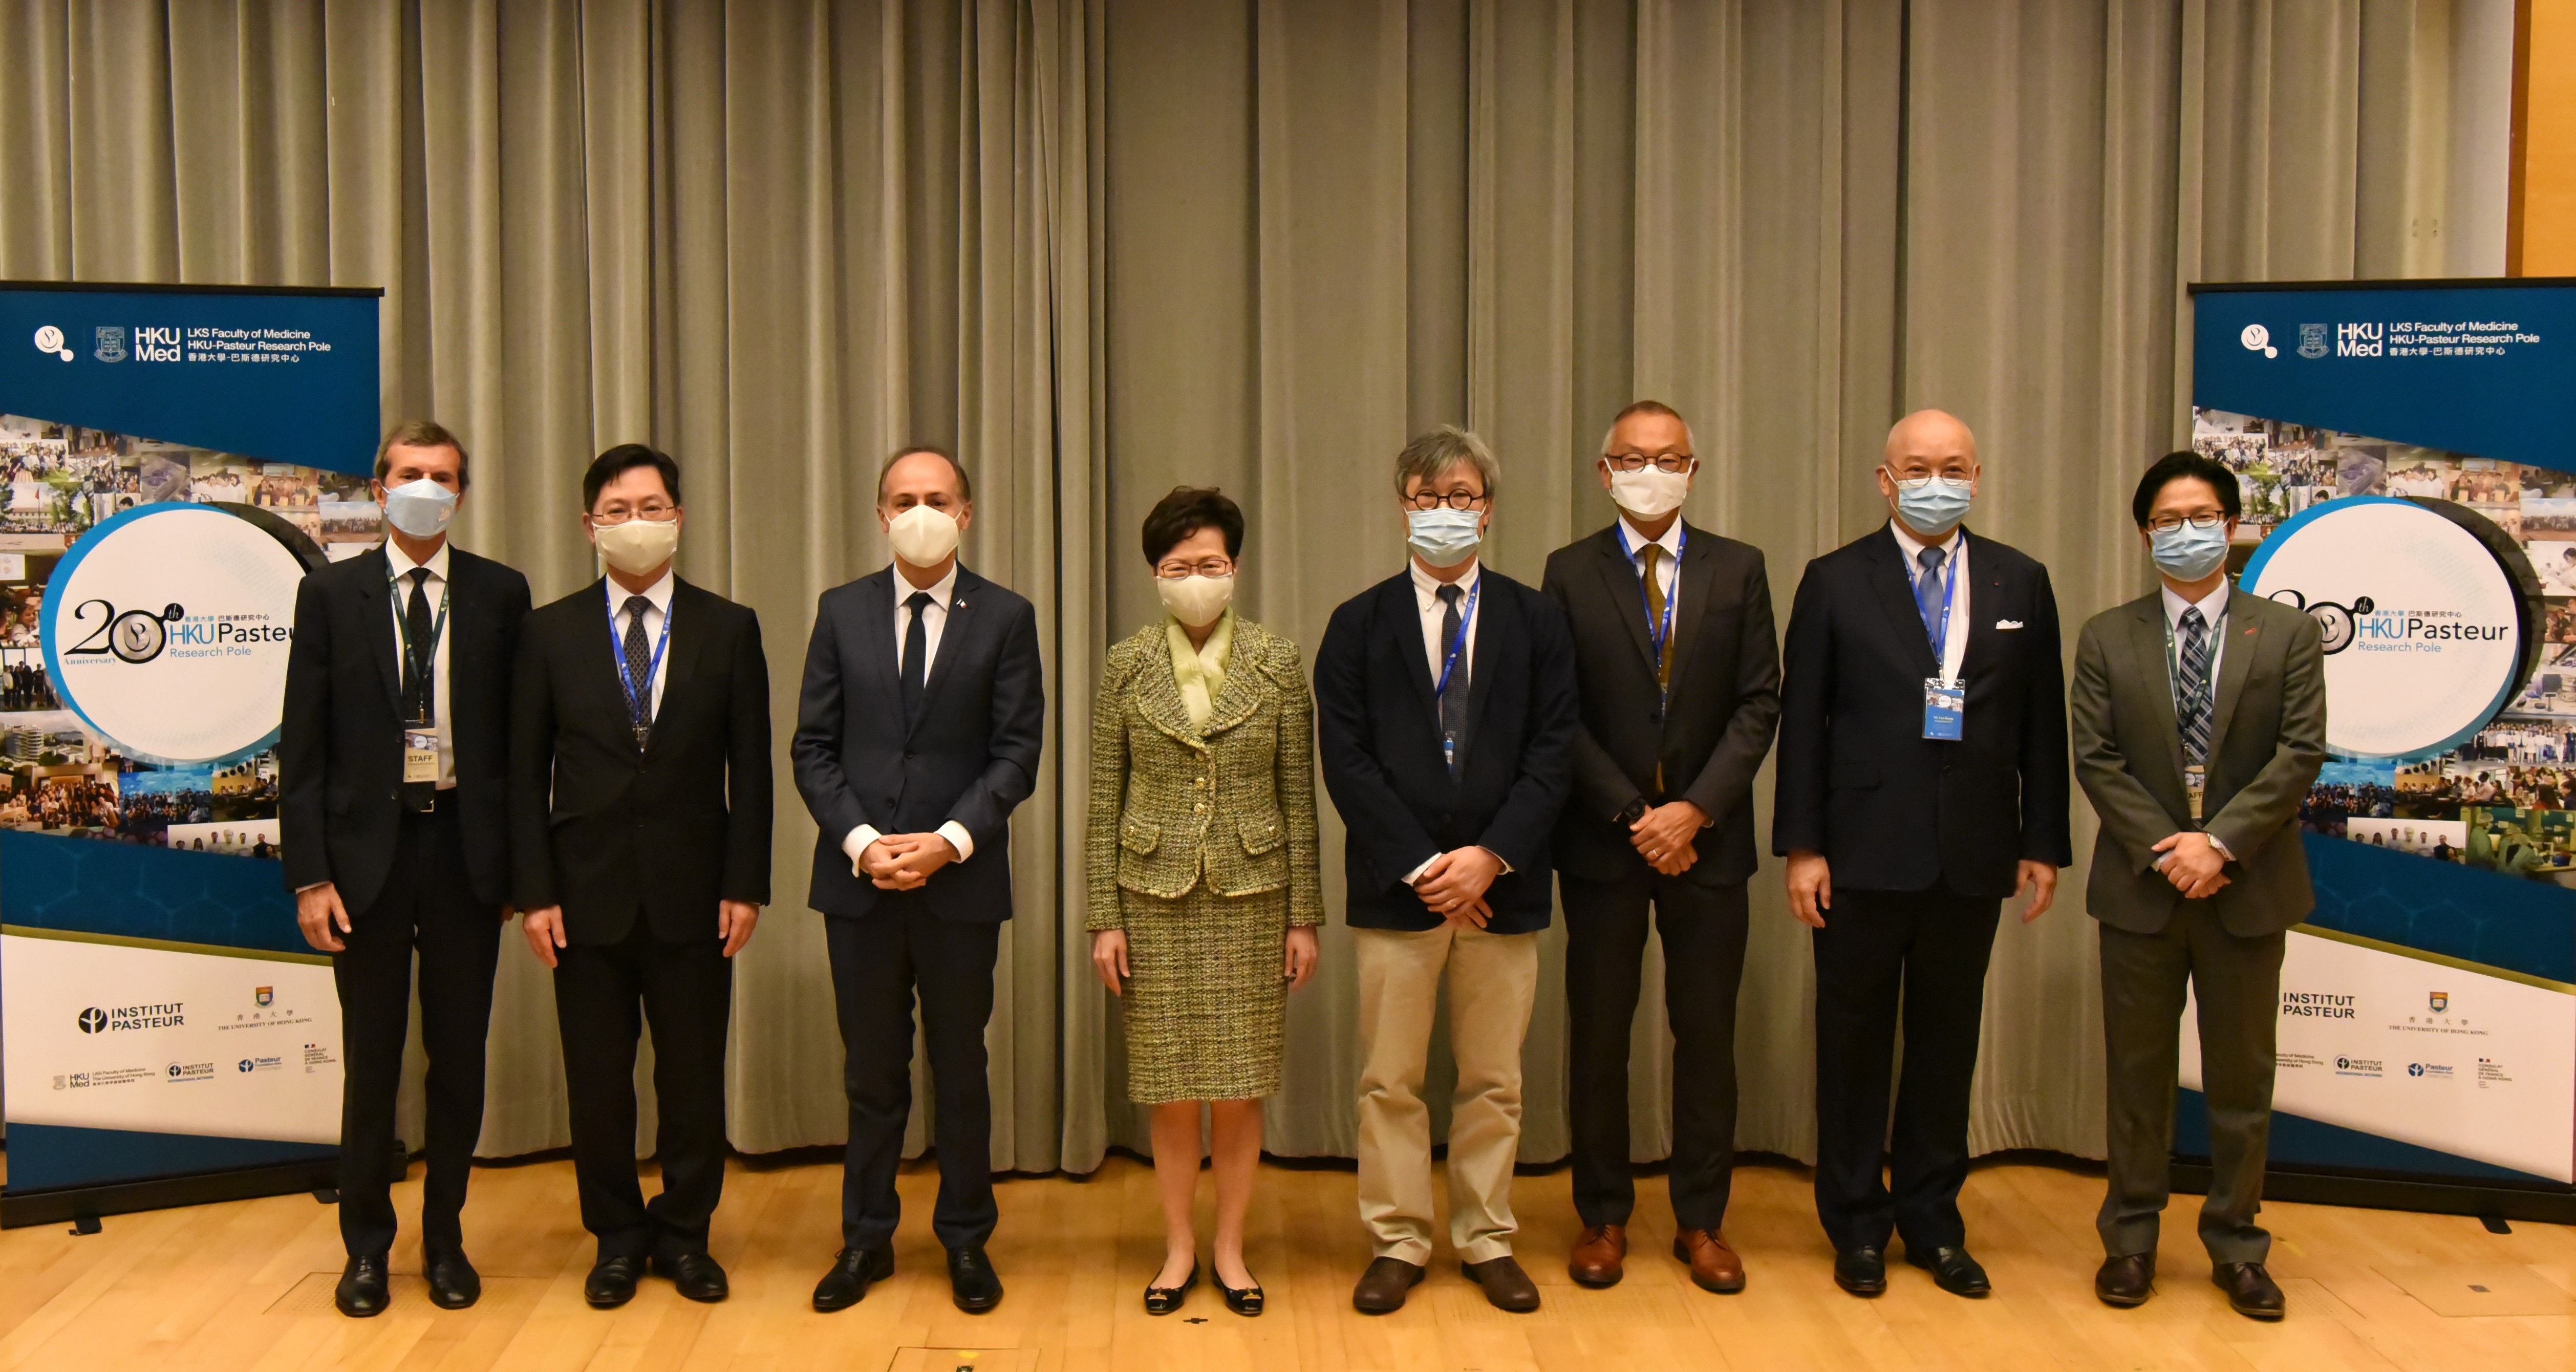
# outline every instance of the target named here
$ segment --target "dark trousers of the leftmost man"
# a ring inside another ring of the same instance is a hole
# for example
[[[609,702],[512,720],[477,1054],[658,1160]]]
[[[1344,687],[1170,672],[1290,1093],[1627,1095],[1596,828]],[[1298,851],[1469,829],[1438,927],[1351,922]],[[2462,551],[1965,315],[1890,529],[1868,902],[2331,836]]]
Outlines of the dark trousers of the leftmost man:
[[[394,1097],[412,1027],[412,952],[420,952],[420,1048],[428,1079],[428,1184],[420,1246],[461,1254],[466,1174],[482,1138],[484,1032],[492,1027],[492,965],[500,909],[474,898],[456,811],[407,813],[394,867],[368,909],[348,911],[332,955],[340,986],[340,1241],[350,1256],[394,1246]]]

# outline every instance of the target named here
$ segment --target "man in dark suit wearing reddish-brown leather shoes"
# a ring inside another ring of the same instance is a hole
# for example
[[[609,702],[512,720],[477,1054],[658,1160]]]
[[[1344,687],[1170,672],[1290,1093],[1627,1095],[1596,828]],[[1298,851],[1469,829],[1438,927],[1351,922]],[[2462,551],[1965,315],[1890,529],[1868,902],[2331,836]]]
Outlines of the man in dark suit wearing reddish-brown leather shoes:
[[[1672,1019],[1672,1254],[1703,1290],[1744,1290],[1718,1225],[1736,1166],[1744,880],[1759,865],[1752,785],[1780,723],[1780,646],[1762,551],[1682,520],[1698,466],[1672,407],[1620,409],[1597,463],[1620,517],[1551,553],[1543,582],[1574,631],[1584,710],[1556,885],[1584,1220],[1566,1269],[1587,1287],[1615,1284],[1628,1256],[1628,1037],[1651,904]]]

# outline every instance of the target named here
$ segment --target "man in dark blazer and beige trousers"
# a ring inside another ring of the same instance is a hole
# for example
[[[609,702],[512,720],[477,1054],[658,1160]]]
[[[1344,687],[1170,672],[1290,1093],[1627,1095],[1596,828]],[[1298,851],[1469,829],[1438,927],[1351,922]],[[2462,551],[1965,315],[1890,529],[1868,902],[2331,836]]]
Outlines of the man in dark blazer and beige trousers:
[[[1401,1308],[1432,1256],[1422,1073],[1443,978],[1458,1058],[1450,1243],[1486,1300],[1538,1308],[1512,1259],[1512,1163],[1553,906],[1548,834],[1577,728],[1574,646],[1553,600],[1479,569],[1497,476],[1471,432],[1406,443],[1396,499],[1412,566],[1342,602],[1314,659],[1360,952],[1360,1220],[1376,1261],[1350,1302],[1373,1315]]]

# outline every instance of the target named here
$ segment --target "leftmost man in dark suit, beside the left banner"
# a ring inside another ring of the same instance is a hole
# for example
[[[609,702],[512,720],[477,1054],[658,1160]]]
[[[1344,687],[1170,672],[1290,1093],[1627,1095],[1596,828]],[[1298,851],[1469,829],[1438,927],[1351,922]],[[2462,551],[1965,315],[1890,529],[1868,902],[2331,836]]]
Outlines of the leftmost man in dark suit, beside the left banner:
[[[464,443],[430,420],[384,435],[386,543],[304,577],[286,654],[278,829],[304,940],[340,986],[348,1269],[332,1300],[361,1318],[386,1305],[415,950],[430,1058],[420,1269],[448,1310],[482,1295],[459,1215],[510,901],[510,662],[528,579],[448,543],[466,474]]]

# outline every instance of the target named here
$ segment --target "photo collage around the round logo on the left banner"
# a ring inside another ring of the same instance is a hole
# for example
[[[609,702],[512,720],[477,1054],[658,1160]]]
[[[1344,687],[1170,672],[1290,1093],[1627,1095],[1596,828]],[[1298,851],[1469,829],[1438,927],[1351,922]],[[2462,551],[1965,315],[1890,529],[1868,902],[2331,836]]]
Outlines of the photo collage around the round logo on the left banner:
[[[46,674],[46,587],[82,533],[170,502],[247,510],[307,559],[358,556],[384,541],[366,476],[0,414],[0,829],[278,857],[276,752],[170,765],[90,728]],[[54,623],[57,654],[113,633],[100,605]]]

